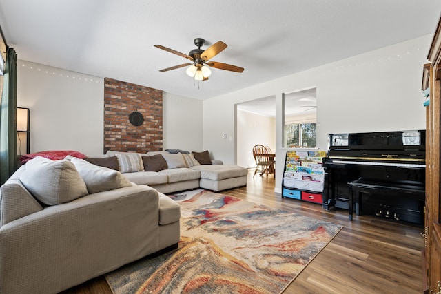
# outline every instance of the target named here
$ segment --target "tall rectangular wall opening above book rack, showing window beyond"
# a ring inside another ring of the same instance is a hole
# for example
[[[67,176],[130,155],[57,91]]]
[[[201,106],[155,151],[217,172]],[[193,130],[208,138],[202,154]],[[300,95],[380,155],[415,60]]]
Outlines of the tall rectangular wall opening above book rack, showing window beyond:
[[[285,93],[284,99],[285,133],[283,147],[316,147],[316,88]]]

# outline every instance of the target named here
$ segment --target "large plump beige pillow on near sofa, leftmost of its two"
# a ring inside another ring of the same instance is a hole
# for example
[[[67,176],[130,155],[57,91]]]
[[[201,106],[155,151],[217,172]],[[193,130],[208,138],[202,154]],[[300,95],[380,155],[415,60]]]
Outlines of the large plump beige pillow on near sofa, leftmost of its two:
[[[48,205],[88,195],[85,182],[72,162],[37,156],[26,163],[20,180],[32,195]]]

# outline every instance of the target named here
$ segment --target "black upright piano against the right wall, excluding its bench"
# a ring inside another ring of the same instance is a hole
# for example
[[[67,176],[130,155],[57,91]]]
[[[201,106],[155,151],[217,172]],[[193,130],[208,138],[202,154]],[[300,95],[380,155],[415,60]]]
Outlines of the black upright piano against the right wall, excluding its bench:
[[[323,207],[348,209],[348,183],[367,182],[360,213],[424,224],[425,142],[424,130],[330,134]]]

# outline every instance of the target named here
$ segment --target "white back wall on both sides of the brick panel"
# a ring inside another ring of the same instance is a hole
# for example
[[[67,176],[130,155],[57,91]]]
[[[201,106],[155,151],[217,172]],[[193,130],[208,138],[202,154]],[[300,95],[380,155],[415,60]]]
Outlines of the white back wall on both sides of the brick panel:
[[[17,106],[30,108],[31,152],[103,154],[103,105],[103,78],[17,61]],[[164,93],[164,149],[202,151],[202,119],[202,101]]]

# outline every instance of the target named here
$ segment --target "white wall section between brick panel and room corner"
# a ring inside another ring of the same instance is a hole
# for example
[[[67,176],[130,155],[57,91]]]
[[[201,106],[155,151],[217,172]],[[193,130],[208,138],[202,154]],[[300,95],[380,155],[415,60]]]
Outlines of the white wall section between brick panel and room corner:
[[[163,94],[163,149],[202,149],[202,101]]]

